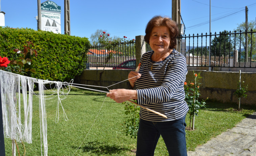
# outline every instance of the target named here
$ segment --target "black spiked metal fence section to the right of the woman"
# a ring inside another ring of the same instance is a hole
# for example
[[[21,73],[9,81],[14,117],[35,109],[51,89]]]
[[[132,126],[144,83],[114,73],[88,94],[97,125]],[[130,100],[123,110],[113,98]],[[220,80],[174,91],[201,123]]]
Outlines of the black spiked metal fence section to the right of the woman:
[[[185,35],[178,37],[177,50],[186,57],[187,66],[256,68],[255,34],[240,30]]]

